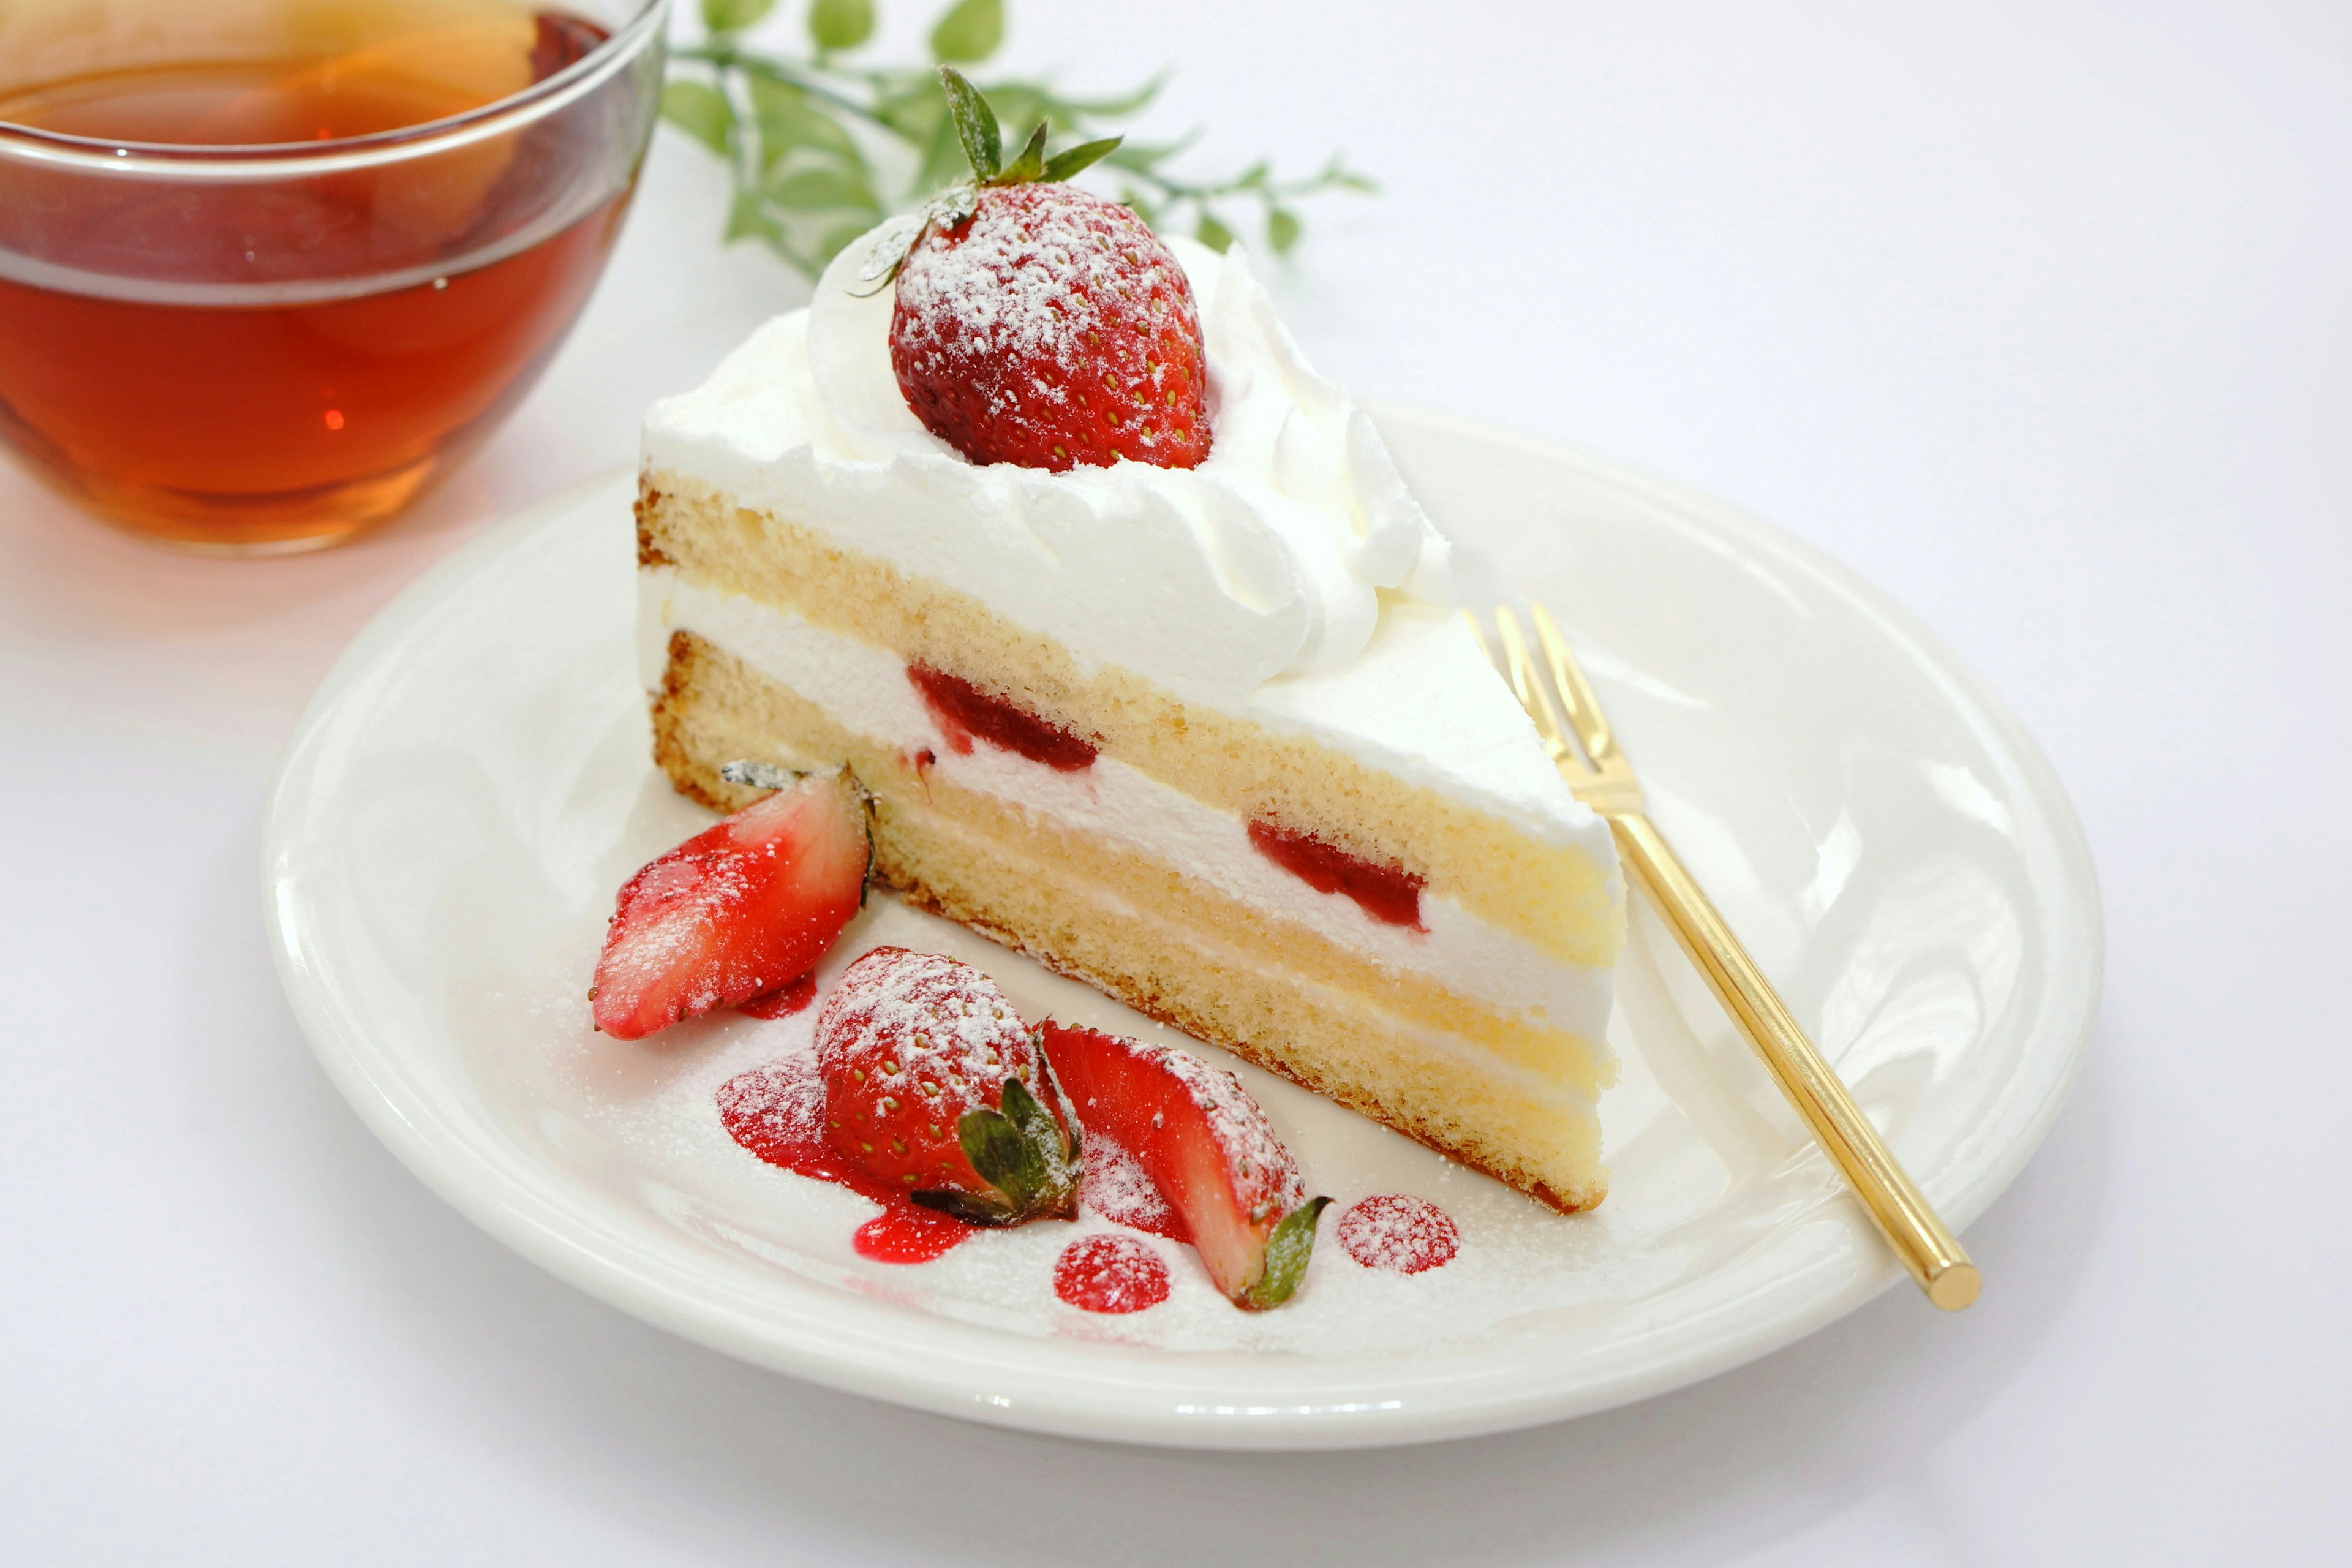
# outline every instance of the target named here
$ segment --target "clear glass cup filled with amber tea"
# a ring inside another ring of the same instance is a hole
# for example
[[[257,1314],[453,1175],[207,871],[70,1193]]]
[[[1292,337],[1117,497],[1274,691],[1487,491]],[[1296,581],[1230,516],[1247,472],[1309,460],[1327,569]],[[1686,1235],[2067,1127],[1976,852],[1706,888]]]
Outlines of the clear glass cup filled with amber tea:
[[[395,512],[604,263],[659,92],[619,9],[0,0],[0,442],[181,543]]]

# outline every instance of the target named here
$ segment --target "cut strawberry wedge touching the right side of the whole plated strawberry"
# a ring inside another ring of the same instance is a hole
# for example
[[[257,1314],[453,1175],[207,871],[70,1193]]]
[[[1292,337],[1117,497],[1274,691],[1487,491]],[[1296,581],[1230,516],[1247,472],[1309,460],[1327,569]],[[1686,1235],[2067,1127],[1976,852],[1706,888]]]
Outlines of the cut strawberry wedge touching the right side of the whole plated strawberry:
[[[1049,1023],[1040,1034],[1080,1124],[1136,1157],[1225,1300],[1251,1312],[1287,1302],[1331,1199],[1305,1197],[1298,1161],[1242,1079],[1098,1030]]]

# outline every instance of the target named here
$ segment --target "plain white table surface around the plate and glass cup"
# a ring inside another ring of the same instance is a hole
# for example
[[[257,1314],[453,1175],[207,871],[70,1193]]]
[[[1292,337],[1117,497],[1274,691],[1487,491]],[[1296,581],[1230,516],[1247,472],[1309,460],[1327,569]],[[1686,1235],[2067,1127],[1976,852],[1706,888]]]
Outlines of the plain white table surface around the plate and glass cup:
[[[1018,0],[1014,56],[1181,66],[1204,165],[1345,146],[1388,195],[1277,270],[1324,369],[1762,512],[2009,693],[2110,961],[1983,1302],[1517,1436],[1145,1453],[731,1363],[395,1166],[270,973],[263,792],[379,604],[804,299],[663,134],[390,531],[191,559],[0,465],[0,1561],[2345,1561],[2347,12]]]

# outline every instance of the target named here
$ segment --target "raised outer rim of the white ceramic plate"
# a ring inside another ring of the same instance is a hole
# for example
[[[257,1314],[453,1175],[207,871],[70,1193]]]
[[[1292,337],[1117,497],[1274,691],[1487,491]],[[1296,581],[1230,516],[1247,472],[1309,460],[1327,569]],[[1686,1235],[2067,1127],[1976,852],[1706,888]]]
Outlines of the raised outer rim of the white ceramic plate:
[[[1743,545],[1743,552],[1802,569],[1823,588],[1867,611],[1882,632],[1905,644],[1910,658],[1922,670],[1936,675],[1955,701],[1964,701],[1971,722],[1985,731],[1987,748],[2018,773],[2025,792],[2042,809],[2058,891],[2070,893],[2074,903],[2070,936],[2082,943],[2082,952],[2072,971],[2063,973],[2058,966],[2051,966],[2053,985],[2060,978],[2072,980],[2072,987],[2060,997],[2060,1001],[2070,1004],[2070,1009],[2060,1011],[2070,1016],[2060,1018],[2056,1027],[2065,1039],[2053,1041],[2046,1058],[2056,1072],[2049,1072],[2039,1098],[2013,1114],[2016,1126],[1997,1157],[1943,1204],[1955,1229],[1971,1225],[2016,1180],[2063,1110],[2082,1070],[2091,1025],[2098,1018],[2105,969],[2105,922],[2089,842],[2065,788],[2032,733],[1999,693],[1917,616],[1835,557],[1762,517],[1642,468],[1517,430],[1395,402],[1374,402],[1371,411],[1383,425],[1392,421],[1411,423],[1446,437],[1505,444],[1541,461],[1564,463],[1663,501],[1672,510],[1689,515],[1691,522]],[[1084,1387],[1058,1387],[1051,1399],[1028,1399],[1018,1389],[1007,1389],[1004,1368],[1018,1361],[1018,1356],[1004,1354],[1004,1335],[993,1328],[922,1314],[922,1333],[931,1340],[929,1363],[962,1366],[964,1375],[957,1380],[941,1378],[938,1373],[908,1373],[898,1363],[901,1356],[896,1356],[889,1335],[875,1333],[877,1326],[889,1324],[894,1314],[903,1312],[898,1307],[870,1300],[854,1302],[870,1321],[826,1324],[828,1338],[823,1345],[786,1342],[776,1333],[774,1309],[755,1312],[748,1295],[741,1302],[713,1300],[708,1288],[682,1288],[680,1269],[670,1269],[680,1279],[666,1279],[663,1269],[656,1267],[661,1260],[642,1255],[642,1248],[640,1255],[600,1251],[597,1244],[607,1241],[607,1237],[597,1237],[595,1225],[583,1222],[588,1215],[564,1208],[560,1201],[562,1182],[553,1173],[536,1173],[536,1182],[517,1180],[515,1171],[489,1161],[466,1138],[452,1138],[445,1128],[437,1128],[437,1119],[426,1114],[428,1107],[405,1091],[397,1074],[388,1072],[388,1060],[367,1039],[358,1009],[336,997],[332,966],[322,969],[320,957],[306,954],[301,945],[301,912],[292,903],[296,889],[289,877],[289,858],[294,832],[308,802],[308,785],[322,764],[320,748],[332,736],[346,703],[362,693],[365,677],[379,665],[381,654],[397,649],[419,623],[482,567],[520,548],[527,538],[597,494],[633,482],[635,473],[635,463],[614,465],[503,517],[435,562],[379,609],[343,649],[303,708],[282,755],[261,835],[263,905],[273,961],[294,1018],[329,1081],[334,1081],[336,1091],[376,1140],[430,1192],[539,1267],[687,1340],[842,1392],[1028,1432],[1221,1450],[1369,1448],[1444,1441],[1606,1410],[1689,1387],[1771,1354],[1853,1312],[1903,1276],[1891,1253],[1886,1253],[1882,1255],[1884,1267],[1877,1276],[1825,1281],[1825,1288],[1797,1293],[1795,1300],[1788,1300],[1773,1314],[1750,1319],[1743,1333],[1715,1335],[1708,1349],[1686,1352],[1665,1363],[1642,1361],[1613,1373],[1588,1373],[1571,1380],[1564,1389],[1543,1382],[1526,1387],[1519,1378],[1503,1378],[1498,1387],[1475,1399],[1456,1396],[1439,1401],[1432,1392],[1414,1389],[1411,1399],[1383,1399],[1355,1406],[1334,1406],[1329,1401],[1284,1403],[1284,1378],[1263,1375],[1263,1368],[1258,1368],[1261,1389],[1247,1401],[1162,1403],[1152,1410],[1138,1410],[1131,1399],[1103,1399],[1098,1392],[1089,1394]],[[2056,917],[2058,910],[2046,910],[2046,914]],[[2049,919],[2046,924],[2056,931],[2058,922]],[[2044,1016],[2049,1011],[2044,1009]],[[621,1241],[621,1253],[628,1253],[626,1237]],[[1813,1272],[1830,1269],[1816,1260],[1792,1279],[1802,1281]],[[710,1281],[701,1284],[708,1286]],[[767,1284],[771,1286],[774,1281]],[[814,1281],[795,1284],[807,1291],[840,1295],[830,1286],[816,1286]],[[1922,1309],[1926,1307],[1922,1305]],[[1715,1314],[1722,1312],[1722,1307],[1715,1309]],[[1075,1366],[1087,1366],[1098,1354],[1091,1347],[1068,1342],[1040,1345],[1051,1347],[1049,1354],[1054,1361],[1070,1361]],[[1501,1352],[1446,1356],[1446,1371],[1442,1371],[1437,1385],[1458,1387],[1465,1382],[1468,1366],[1479,1359],[1491,1361],[1496,1354]],[[1494,1380],[1491,1373],[1482,1375]],[[1390,1382],[1388,1387],[1409,1385],[1411,1380],[1402,1385]]]

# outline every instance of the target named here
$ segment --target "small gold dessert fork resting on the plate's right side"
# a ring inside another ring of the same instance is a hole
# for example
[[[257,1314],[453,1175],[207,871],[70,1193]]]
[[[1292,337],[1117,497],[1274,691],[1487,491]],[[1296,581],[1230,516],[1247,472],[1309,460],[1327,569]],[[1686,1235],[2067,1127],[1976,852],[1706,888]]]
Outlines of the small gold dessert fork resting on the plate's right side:
[[[1740,1034],[1764,1058],[1764,1067],[1780,1084],[1780,1093],[1788,1095],[1788,1103],[1813,1128],[1820,1147],[1830,1152],[1837,1168],[1853,1182],[1853,1192],[1863,1199],[1863,1208],[1870,1211],[1879,1234],[1896,1248],[1896,1258],[1903,1260],[1903,1267],[1910,1269],[1931,1302],[1945,1312],[1959,1312],[1976,1300],[1976,1291],[1983,1284],[1969,1253],[1962,1251],[1959,1239],[1929,1208],[1926,1197],[1912,1185],[1912,1178],[1896,1161],[1879,1131],[1870,1126],[1870,1117],[1863,1114],[1863,1107],[1846,1093],[1830,1063],[1823,1060],[1813,1041],[1797,1027],[1771,980],[1748,957],[1740,940],[1731,936],[1731,926],[1724,924],[1724,917],[1717,914],[1708,896],[1698,891],[1691,872],[1684,870],[1682,860],[1668,846],[1665,835],[1642,811],[1642,780],[1635,778],[1632,764],[1618,750],[1616,736],[1609,733],[1609,719],[1602,717],[1602,705],[1595,701],[1585,672],[1576,665],[1576,656],[1569,654],[1559,628],[1552,625],[1552,616],[1541,604],[1529,607],[1529,616],[1536,623],[1536,642],[1543,649],[1541,663],[1529,654],[1526,637],[1519,632],[1519,618],[1508,604],[1494,611],[1494,628],[1503,642],[1501,661],[1486,646],[1486,635],[1479,630],[1477,616],[1468,609],[1463,611],[1479,649],[1510,677],[1510,686],[1519,693],[1519,705],[1526,708],[1526,715],[1543,733],[1543,748],[1552,755],[1552,764],[1559,766],[1559,776],[1569,780],[1576,799],[1609,820],[1618,856],[1632,867],[1635,879],[1649,891],[1658,912],[1665,914],[1665,924],[1675,929],[1675,938],[1691,954],[1698,973],[1708,978],[1717,1001],[1740,1025]],[[1550,684],[1545,684],[1545,675]],[[1559,717],[1552,712],[1555,703],[1559,715],[1566,717],[1566,729],[1562,729]]]

